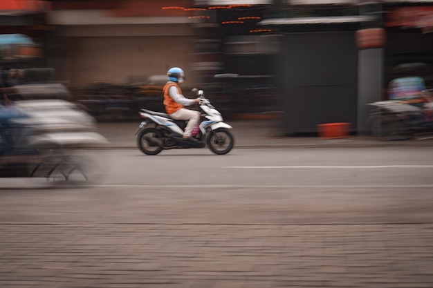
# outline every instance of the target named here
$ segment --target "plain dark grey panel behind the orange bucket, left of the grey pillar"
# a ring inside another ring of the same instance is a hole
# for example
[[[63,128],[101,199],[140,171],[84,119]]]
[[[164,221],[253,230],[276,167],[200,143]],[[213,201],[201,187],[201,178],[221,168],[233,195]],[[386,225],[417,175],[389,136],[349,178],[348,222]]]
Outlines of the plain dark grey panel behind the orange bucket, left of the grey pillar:
[[[358,50],[354,32],[288,33],[277,64],[286,133],[315,133],[317,124],[356,127]]]

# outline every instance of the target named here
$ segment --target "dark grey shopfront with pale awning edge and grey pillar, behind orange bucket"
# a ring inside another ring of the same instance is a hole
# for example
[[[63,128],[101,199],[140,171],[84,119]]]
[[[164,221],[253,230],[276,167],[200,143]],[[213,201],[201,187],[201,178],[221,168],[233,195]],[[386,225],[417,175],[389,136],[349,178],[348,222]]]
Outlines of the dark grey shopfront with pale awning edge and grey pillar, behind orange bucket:
[[[276,7],[261,26],[280,36],[275,75],[288,134],[346,122],[362,131],[369,102],[380,99],[384,39],[376,8],[346,3]],[[371,41],[373,40],[373,41]]]

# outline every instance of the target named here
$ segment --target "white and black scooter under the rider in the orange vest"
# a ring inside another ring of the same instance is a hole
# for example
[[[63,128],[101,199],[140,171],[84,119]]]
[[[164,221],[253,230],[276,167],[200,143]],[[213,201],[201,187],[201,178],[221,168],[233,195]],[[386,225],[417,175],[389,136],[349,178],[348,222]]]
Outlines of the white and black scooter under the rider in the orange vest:
[[[199,99],[201,122],[192,133],[196,142],[182,138],[185,121],[172,119],[167,113],[141,109],[140,123],[134,135],[137,135],[137,146],[147,155],[156,155],[163,150],[178,148],[205,148],[217,155],[229,153],[234,146],[234,137],[230,132],[232,126],[223,122],[221,113],[205,98],[203,90],[192,89]]]

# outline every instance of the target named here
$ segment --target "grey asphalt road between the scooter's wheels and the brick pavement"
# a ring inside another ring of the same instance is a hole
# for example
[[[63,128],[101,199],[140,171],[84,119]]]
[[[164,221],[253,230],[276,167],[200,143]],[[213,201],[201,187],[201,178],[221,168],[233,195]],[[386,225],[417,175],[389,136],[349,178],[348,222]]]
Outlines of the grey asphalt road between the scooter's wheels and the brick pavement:
[[[433,220],[433,148],[90,153],[98,156],[98,171],[104,172],[100,182],[80,189],[2,189],[0,222]],[[3,183],[17,184],[8,181]]]

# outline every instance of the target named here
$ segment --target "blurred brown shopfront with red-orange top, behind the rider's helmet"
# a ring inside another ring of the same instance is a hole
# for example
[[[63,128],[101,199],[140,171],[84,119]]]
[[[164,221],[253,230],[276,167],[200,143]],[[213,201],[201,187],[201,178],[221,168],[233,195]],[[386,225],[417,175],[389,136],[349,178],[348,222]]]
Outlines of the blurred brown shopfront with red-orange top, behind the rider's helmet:
[[[191,1],[52,1],[56,70],[71,88],[145,82],[180,66],[191,75]],[[122,3],[120,3],[122,2]]]

